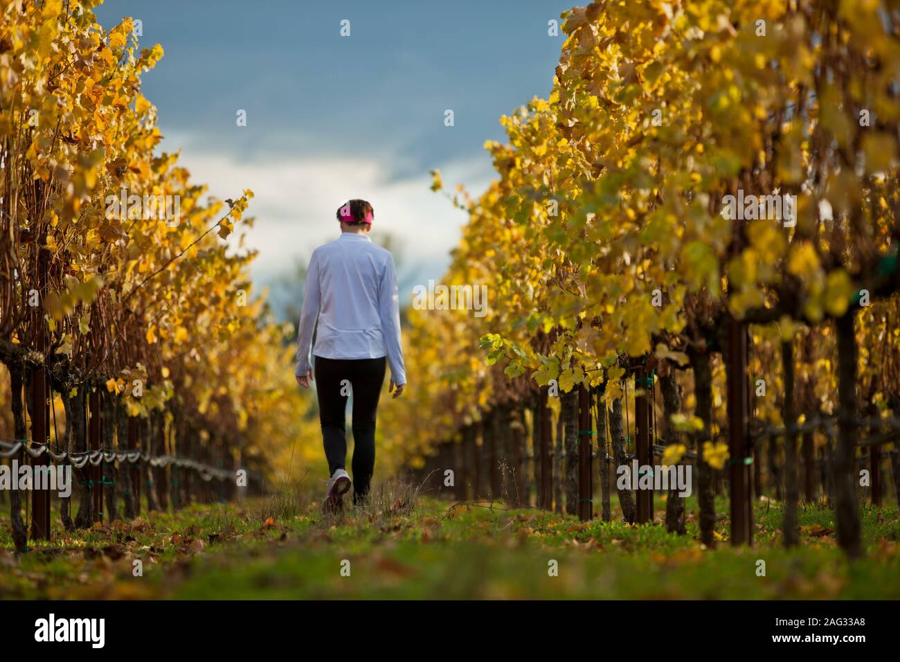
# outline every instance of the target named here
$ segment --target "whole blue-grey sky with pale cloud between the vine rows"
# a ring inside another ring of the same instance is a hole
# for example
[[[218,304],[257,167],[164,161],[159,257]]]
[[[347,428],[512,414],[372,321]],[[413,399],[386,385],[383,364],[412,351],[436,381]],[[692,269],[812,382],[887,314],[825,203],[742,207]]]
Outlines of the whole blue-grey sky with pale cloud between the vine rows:
[[[549,94],[563,36],[549,36],[547,23],[571,6],[106,0],[95,14],[106,28],[139,19],[141,45],[165,50],[143,84],[163,149],[180,148],[211,195],[256,193],[247,245],[260,251],[258,281],[335,238],[334,210],[363,197],[375,208],[373,238],[400,240],[411,287],[441,276],[465,221],[428,189],[428,171],[484,190],[493,170],[483,143],[504,141],[501,114]],[[345,19],[349,37],[339,33]],[[455,126],[445,126],[446,109]]]

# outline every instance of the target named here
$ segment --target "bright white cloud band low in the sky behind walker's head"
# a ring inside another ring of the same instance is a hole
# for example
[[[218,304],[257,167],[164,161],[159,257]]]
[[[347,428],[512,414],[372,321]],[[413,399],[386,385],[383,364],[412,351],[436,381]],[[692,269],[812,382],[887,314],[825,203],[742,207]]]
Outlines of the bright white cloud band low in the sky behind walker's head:
[[[189,144],[171,137],[169,144]],[[266,161],[241,161],[230,154],[213,154],[184,147],[181,163],[195,183],[209,186],[210,195],[236,198],[245,188],[254,192],[248,214],[256,217],[245,245],[258,249],[252,272],[260,283],[287,272],[316,246],[338,236],[335,210],[349,198],[365,198],[375,209],[373,238],[381,232],[397,235],[403,261],[418,265],[416,277],[440,277],[449,251],[459,241],[465,214],[444,195],[430,189],[428,171],[389,180],[393,157],[363,155],[331,157],[303,154]],[[438,164],[447,186],[457,182],[479,195],[491,181],[487,154],[470,161]]]

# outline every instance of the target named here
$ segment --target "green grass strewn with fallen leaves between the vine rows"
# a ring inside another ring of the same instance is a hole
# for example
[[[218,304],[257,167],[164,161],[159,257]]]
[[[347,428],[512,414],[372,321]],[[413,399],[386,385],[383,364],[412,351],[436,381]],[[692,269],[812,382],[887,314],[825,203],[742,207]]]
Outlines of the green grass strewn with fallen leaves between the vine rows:
[[[388,486],[365,512],[320,514],[303,494],[192,505],[77,535],[21,558],[0,521],[0,596],[16,598],[900,598],[900,513],[862,511],[866,557],[837,548],[833,513],[801,506],[801,545],[782,548],[781,508],[757,503],[754,547],[716,549],[657,522],[581,523],[536,509],[457,506]],[[656,503],[662,517],[664,503]],[[619,513],[614,513],[617,517]],[[271,518],[271,520],[269,519]],[[267,521],[267,523],[266,523]],[[6,523],[7,526],[3,526]],[[59,529],[55,529],[59,531]],[[132,576],[140,558],[143,576]],[[766,575],[758,576],[758,560]],[[349,576],[342,567],[349,562]],[[558,576],[549,576],[556,561]]]

